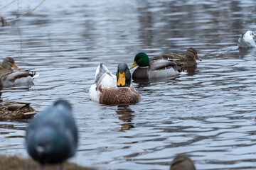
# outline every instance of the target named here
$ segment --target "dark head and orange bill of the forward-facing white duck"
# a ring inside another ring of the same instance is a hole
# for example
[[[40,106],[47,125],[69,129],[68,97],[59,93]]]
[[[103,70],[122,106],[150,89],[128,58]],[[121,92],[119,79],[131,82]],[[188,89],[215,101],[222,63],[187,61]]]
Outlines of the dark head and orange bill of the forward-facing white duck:
[[[131,72],[127,64],[120,63],[117,67],[117,87],[131,86]]]

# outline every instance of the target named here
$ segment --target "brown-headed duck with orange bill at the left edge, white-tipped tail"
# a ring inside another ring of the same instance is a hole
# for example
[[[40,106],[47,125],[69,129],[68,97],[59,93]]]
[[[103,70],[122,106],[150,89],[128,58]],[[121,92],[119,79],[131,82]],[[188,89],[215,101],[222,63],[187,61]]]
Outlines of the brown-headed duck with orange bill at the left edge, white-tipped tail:
[[[13,69],[19,69],[16,67],[14,59],[12,57],[4,58],[0,66],[0,88],[11,87],[11,86],[32,86],[33,79],[39,76],[36,72],[17,71]],[[20,70],[20,69],[19,69]]]

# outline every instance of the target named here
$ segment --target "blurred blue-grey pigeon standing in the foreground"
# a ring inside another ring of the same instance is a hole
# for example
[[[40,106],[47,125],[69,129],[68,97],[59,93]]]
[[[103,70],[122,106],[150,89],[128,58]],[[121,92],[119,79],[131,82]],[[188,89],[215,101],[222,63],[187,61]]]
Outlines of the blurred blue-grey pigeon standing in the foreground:
[[[75,154],[78,128],[68,101],[59,99],[38,113],[26,129],[28,154],[41,164],[60,164]]]

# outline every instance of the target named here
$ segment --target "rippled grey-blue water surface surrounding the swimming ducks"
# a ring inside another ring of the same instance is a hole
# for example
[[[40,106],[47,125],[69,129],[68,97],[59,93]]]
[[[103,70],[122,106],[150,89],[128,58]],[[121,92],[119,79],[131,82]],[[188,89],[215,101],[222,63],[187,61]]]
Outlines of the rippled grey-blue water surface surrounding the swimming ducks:
[[[256,1],[46,0],[16,20],[39,2],[0,9],[13,21],[0,28],[1,59],[14,57],[18,67],[40,74],[29,89],[1,90],[1,100],[42,111],[67,98],[80,131],[70,161],[98,169],[169,169],[176,154],[188,154],[197,169],[256,169],[256,55],[237,47],[242,33],[256,31]],[[142,94],[136,105],[89,100],[100,62],[116,72],[137,52],[185,54],[188,47],[203,60],[196,72],[134,82]],[[0,154],[28,157],[27,125],[0,122]]]

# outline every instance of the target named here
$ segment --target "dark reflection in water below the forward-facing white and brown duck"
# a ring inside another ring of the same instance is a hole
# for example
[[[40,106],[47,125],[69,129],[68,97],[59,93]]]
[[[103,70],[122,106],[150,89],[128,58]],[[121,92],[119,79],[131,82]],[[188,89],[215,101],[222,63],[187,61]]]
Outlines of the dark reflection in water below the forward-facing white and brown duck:
[[[134,124],[131,123],[132,119],[134,118],[134,111],[132,111],[129,106],[117,106],[117,115],[119,116],[119,120],[122,120],[124,123],[122,123],[121,132],[124,130],[129,130],[131,128],[134,128]]]

